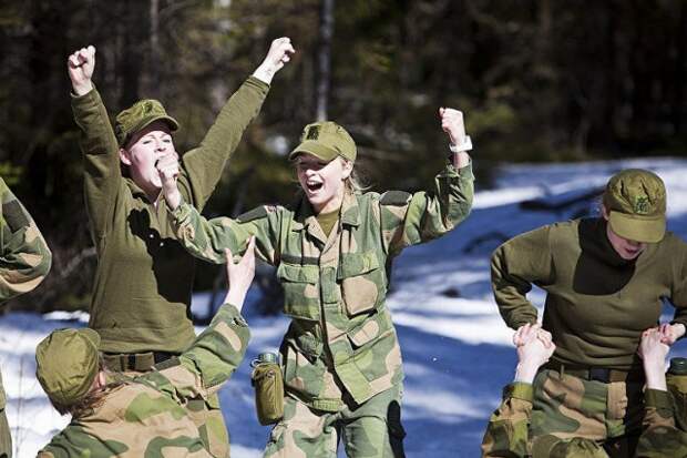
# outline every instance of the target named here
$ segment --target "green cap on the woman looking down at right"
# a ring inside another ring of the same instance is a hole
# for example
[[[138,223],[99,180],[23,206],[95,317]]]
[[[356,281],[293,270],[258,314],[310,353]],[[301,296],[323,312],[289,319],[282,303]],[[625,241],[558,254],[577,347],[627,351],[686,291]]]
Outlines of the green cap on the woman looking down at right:
[[[621,237],[660,242],[666,233],[666,186],[646,170],[628,169],[608,180],[604,206],[611,228]]]

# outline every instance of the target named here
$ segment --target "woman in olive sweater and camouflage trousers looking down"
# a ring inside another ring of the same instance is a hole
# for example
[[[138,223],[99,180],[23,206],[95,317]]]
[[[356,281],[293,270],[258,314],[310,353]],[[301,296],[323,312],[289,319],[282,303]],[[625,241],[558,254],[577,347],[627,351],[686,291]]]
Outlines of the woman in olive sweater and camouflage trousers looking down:
[[[660,326],[667,344],[687,323],[687,244],[666,227],[663,181],[644,170],[614,175],[602,217],[545,226],[500,246],[492,286],[514,329],[535,323],[526,293],[546,291],[543,329],[556,350],[534,380],[533,446],[585,438],[611,456],[633,456],[644,417],[642,333],[658,323],[662,298],[675,306]],[[551,334],[548,334],[551,333]]]

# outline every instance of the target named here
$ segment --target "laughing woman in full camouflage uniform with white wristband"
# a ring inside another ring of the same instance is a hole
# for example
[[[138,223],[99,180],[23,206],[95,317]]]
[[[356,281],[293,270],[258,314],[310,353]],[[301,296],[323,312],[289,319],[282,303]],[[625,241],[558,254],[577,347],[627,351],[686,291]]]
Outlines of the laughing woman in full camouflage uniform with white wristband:
[[[334,457],[340,435],[349,457],[403,456],[401,352],[384,305],[390,262],[455,227],[473,195],[462,113],[440,114],[455,151],[430,192],[358,192],[356,144],[334,122],[307,125],[291,152],[303,193],[290,207],[206,221],[163,179],[191,253],[217,263],[224,247],[240,251],[255,235],[260,258],[277,267],[291,324],[280,348],[285,415],[266,456]]]

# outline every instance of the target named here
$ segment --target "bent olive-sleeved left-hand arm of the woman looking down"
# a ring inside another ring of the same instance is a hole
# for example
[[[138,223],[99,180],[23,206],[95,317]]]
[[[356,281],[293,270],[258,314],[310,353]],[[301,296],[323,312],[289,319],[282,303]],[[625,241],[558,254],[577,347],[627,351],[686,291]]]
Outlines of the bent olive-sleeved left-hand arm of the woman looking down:
[[[536,322],[536,308],[526,296],[532,284],[553,281],[550,231],[550,226],[545,226],[521,234],[498,247],[492,255],[494,298],[505,324],[513,329]]]

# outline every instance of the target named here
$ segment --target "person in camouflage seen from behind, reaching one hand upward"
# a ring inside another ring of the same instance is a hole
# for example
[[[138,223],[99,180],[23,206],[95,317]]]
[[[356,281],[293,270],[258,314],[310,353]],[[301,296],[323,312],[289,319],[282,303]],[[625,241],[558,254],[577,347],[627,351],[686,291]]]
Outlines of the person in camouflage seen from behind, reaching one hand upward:
[[[225,304],[191,347],[136,377],[112,373],[89,328],[59,329],[37,348],[37,377],[53,406],[72,415],[39,458],[214,457],[186,409],[216,394],[244,358],[250,333],[240,315],[255,272],[255,241],[237,263],[227,254]]]

